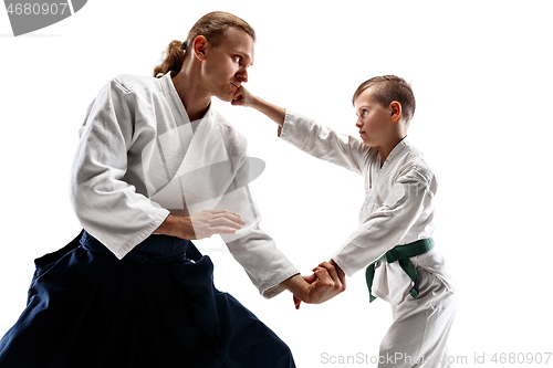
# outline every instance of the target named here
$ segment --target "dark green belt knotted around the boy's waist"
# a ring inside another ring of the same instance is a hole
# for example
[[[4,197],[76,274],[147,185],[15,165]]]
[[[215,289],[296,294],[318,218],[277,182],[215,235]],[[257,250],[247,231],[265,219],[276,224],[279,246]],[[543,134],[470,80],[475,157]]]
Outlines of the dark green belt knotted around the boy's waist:
[[[399,262],[399,265],[405,271],[405,273],[413,280],[415,286],[409,291],[409,294],[414,298],[418,296],[418,278],[417,271],[409,260],[411,256],[420,255],[422,253],[428,252],[434,248],[434,240],[431,238],[417,240],[416,242],[397,245],[386,252],[382,257],[371,263],[367,266],[365,276],[367,278],[368,294],[371,295],[371,302],[376,299],[376,296],[373,295],[373,278],[375,277],[375,264],[378,261],[385,261],[388,263]]]

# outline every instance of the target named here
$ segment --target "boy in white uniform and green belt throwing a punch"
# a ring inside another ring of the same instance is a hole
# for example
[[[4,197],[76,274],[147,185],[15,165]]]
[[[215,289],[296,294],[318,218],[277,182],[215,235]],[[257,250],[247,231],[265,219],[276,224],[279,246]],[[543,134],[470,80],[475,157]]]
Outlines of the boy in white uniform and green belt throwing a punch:
[[[416,105],[409,84],[387,75],[359,85],[353,96],[358,137],[338,134],[243,88],[232,103],[265,114],[279,124],[279,136],[301,150],[363,175],[359,227],[328,263],[347,276],[366,269],[371,301],[377,296],[392,305],[394,322],[380,344],[378,367],[448,367],[456,299],[431,239],[437,179],[407,140]],[[295,303],[299,307],[300,301]]]

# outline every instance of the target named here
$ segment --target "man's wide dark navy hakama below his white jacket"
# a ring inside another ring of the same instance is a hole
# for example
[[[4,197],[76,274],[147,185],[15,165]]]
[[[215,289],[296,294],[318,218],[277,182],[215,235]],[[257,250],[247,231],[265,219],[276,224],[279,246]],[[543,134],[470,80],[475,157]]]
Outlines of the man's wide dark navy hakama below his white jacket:
[[[117,260],[83,232],[35,264],[0,368],[295,367],[190,241],[150,235]]]

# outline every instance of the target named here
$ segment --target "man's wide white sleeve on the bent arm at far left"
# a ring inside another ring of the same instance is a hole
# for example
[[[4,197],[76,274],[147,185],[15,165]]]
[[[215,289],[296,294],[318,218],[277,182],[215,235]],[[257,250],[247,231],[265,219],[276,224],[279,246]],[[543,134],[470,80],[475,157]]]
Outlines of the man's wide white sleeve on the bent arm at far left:
[[[145,240],[169,211],[124,179],[135,141],[135,96],[116,80],[88,107],[73,162],[71,199],[83,228],[118,259]]]

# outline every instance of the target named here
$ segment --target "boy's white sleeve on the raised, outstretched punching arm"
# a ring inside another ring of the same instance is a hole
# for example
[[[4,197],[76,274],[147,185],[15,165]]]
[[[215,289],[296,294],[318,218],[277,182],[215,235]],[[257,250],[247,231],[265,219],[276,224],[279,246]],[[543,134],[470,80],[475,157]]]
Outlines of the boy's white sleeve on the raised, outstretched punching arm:
[[[363,174],[369,148],[361,139],[336,133],[291,111],[286,111],[279,136],[311,156]]]

